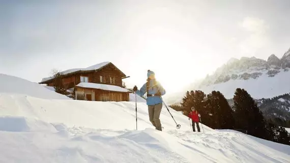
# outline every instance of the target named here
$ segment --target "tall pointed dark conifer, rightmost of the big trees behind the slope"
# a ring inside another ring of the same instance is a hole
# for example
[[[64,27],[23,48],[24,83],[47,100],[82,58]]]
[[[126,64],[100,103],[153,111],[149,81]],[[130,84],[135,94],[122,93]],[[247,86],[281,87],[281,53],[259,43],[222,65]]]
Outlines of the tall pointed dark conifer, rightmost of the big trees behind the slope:
[[[238,88],[234,96],[235,120],[238,129],[245,129],[254,137],[266,138],[266,122],[253,98]]]

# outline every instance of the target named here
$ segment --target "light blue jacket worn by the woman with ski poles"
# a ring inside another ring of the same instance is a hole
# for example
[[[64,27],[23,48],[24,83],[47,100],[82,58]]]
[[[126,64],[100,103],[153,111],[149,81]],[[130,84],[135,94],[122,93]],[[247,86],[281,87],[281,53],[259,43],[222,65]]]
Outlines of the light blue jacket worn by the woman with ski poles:
[[[155,84],[155,81],[154,80],[149,80],[149,90],[148,90],[148,93],[149,94],[156,94],[157,93],[157,90],[160,91],[161,95],[164,95],[165,94],[165,90],[164,88],[161,86],[161,84],[159,82],[156,82],[156,86],[154,86]],[[139,96],[143,96],[145,93],[146,93],[146,88],[147,88],[147,85],[146,83],[140,88],[140,90],[137,90],[136,91],[136,94],[139,95]],[[152,97],[147,97],[147,105],[155,105],[155,104],[158,104],[158,103],[162,103],[162,99],[161,97],[159,96],[152,96]]]

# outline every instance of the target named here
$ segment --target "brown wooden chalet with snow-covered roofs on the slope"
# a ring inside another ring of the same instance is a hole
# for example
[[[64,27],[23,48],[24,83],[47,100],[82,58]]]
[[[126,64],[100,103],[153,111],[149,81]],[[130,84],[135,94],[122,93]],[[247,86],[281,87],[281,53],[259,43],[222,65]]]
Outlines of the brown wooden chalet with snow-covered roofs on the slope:
[[[122,87],[126,75],[111,62],[60,73],[66,89],[75,91],[76,100],[129,101],[129,90]],[[39,84],[53,87],[54,77],[43,78]]]

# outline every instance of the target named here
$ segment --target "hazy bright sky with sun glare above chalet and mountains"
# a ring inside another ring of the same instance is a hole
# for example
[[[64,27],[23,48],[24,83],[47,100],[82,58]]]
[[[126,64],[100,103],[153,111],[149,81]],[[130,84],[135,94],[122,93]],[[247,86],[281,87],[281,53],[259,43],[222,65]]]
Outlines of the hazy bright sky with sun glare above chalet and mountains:
[[[290,1],[1,1],[0,73],[40,82],[52,68],[110,61],[168,93],[231,57],[281,58],[290,47]]]

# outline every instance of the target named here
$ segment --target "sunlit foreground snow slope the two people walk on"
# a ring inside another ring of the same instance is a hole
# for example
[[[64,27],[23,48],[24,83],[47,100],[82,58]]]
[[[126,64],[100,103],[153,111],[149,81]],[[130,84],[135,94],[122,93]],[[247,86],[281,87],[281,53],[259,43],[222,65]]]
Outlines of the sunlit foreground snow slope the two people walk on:
[[[27,86],[23,84],[22,89]],[[34,87],[38,86],[31,85],[28,89],[33,91]],[[137,96],[135,103],[132,93],[128,102],[103,102],[45,99],[41,98],[44,95],[32,97],[18,94],[21,90],[14,91],[0,90],[0,162],[290,160],[290,146],[242,132],[214,130],[200,124],[201,132],[193,133],[188,118],[169,108],[181,125],[176,129],[165,106],[160,115],[164,130],[158,131],[149,121],[144,100]]]

